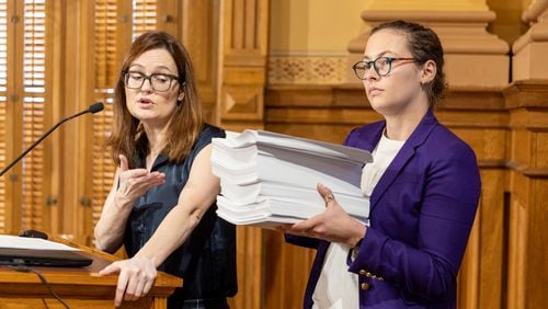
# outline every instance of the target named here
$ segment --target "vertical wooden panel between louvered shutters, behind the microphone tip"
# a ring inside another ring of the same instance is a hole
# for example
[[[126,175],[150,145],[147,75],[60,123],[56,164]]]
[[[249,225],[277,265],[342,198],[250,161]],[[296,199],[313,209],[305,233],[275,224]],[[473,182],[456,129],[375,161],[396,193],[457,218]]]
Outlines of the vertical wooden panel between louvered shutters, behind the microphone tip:
[[[67,1],[65,31],[64,114],[85,110],[94,100],[94,2]],[[70,42],[70,44],[69,44]],[[80,243],[91,233],[92,116],[85,115],[61,128],[62,193],[59,198],[60,232]]]

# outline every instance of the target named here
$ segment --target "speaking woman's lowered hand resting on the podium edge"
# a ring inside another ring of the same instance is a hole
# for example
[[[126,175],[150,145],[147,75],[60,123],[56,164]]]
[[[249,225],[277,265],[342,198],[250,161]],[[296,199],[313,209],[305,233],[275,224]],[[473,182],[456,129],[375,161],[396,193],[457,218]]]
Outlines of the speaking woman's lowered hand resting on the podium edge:
[[[158,275],[150,259],[136,258],[116,261],[99,272],[99,275],[119,273],[114,306],[119,307],[122,300],[132,301],[146,296]]]

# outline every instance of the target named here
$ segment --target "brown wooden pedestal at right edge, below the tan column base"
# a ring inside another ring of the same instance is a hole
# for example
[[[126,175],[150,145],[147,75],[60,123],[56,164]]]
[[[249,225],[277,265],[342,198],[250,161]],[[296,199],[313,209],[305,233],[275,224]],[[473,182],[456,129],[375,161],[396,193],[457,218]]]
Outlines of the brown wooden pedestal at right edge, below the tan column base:
[[[548,278],[548,81],[513,82],[504,90],[512,131],[507,308],[539,308]]]

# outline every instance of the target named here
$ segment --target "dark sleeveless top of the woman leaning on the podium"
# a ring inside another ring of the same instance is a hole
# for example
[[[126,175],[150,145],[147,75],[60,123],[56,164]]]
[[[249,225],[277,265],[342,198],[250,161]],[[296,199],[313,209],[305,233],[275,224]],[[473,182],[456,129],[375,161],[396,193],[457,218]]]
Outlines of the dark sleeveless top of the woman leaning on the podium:
[[[225,137],[225,131],[205,124],[184,162],[169,162],[164,154],[156,159],[151,171],[163,172],[165,183],[150,188],[141,196],[129,215],[124,236],[124,245],[129,256],[134,256],[145,245],[176,205],[194,158],[214,137]],[[145,168],[146,158],[139,159]],[[183,287],[178,288],[170,300],[236,295],[236,227],[217,217],[216,210],[217,205],[213,204],[186,241],[158,267],[159,271],[183,278]]]

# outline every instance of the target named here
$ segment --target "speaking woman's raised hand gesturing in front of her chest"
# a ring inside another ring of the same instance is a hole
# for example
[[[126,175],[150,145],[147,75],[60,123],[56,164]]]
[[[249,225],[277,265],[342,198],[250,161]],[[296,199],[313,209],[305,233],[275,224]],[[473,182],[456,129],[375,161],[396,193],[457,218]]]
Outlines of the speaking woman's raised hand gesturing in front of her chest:
[[[142,196],[149,188],[165,182],[165,174],[149,172],[147,169],[128,169],[127,158],[119,154],[119,187],[116,192],[118,198],[134,202]]]

